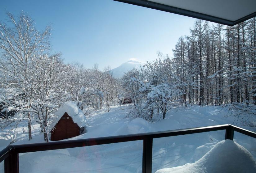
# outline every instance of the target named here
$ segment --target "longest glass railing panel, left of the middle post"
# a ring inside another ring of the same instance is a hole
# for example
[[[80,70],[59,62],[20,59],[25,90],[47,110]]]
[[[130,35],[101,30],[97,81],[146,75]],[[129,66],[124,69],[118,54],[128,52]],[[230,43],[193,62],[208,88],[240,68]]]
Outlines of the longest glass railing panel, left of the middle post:
[[[20,173],[121,172],[142,170],[143,141],[19,154]]]

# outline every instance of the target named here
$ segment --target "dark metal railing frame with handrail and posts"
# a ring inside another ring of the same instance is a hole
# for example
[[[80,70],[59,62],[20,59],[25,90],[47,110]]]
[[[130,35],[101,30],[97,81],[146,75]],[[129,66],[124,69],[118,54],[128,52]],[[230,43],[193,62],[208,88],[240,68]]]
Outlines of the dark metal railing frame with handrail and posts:
[[[47,143],[23,144],[23,145],[9,145],[0,151],[0,162],[4,160],[5,173],[19,172],[19,153],[29,153],[36,151],[58,150],[66,148],[95,146],[103,144],[112,144],[119,142],[138,141],[143,140],[143,154],[142,154],[142,173],[152,172],[152,148],[153,139],[160,137],[171,137],[194,133],[204,133],[218,130],[226,130],[225,139],[234,139],[234,131],[256,138],[256,133],[251,132],[231,124],[197,127],[189,129],[168,130],[160,132],[139,133],[130,135],[120,135],[111,137],[98,137],[90,139],[78,139],[70,141],[55,141]]]

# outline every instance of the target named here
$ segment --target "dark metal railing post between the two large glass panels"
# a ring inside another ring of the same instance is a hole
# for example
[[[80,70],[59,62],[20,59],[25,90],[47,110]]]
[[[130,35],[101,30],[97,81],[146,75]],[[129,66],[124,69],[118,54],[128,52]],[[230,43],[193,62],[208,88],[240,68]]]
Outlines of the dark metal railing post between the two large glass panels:
[[[143,140],[143,155],[142,155],[142,173],[152,172],[152,148],[153,139],[147,138]]]

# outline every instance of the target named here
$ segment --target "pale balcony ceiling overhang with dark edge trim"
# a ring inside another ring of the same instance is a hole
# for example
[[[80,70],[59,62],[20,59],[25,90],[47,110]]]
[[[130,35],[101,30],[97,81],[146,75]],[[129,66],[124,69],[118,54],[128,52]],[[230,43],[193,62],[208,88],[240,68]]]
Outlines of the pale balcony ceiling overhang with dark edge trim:
[[[256,16],[256,0],[115,0],[234,26]]]

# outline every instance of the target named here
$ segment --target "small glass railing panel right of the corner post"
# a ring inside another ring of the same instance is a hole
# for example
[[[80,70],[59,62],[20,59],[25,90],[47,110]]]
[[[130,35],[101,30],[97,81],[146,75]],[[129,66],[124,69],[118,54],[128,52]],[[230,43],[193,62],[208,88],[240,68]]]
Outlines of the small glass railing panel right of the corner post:
[[[256,139],[239,132],[234,132],[234,141],[245,147],[256,159]]]

